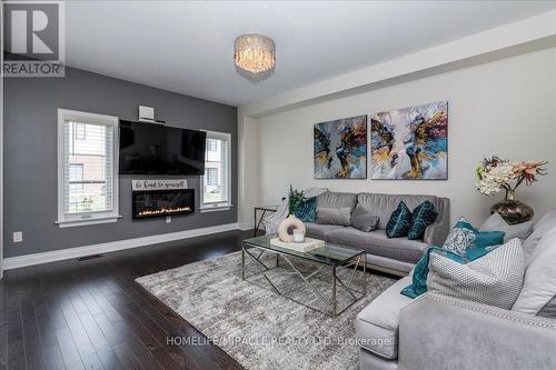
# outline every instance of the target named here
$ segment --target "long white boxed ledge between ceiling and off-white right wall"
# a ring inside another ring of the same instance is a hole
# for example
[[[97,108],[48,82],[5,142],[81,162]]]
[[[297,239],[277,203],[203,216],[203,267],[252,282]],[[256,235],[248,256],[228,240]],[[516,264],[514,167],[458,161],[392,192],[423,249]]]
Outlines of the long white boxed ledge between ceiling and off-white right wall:
[[[426,77],[424,72],[427,71],[441,73],[554,46],[556,10],[265,98],[241,106],[240,112],[249,117],[264,117],[334,99],[355,89],[384,87],[385,83],[399,83],[399,79]]]

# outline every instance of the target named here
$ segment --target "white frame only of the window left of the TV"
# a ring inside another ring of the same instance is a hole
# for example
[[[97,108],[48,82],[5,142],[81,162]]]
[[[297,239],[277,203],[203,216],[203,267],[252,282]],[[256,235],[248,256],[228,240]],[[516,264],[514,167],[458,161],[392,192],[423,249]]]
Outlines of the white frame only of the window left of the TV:
[[[109,211],[79,212],[76,214],[66,213],[64,204],[64,129],[66,122],[73,121],[79,123],[106,124],[112,129],[112,209]],[[60,228],[78,227],[97,223],[108,223],[118,221],[119,216],[119,171],[118,171],[118,150],[119,150],[119,118],[90,112],[82,112],[69,109],[58,109],[58,219],[56,223]]]

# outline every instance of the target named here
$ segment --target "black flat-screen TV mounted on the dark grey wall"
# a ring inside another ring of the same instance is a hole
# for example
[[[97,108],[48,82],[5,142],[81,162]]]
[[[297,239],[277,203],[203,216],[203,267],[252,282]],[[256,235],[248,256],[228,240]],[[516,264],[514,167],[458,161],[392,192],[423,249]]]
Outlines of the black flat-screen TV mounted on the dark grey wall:
[[[203,174],[203,131],[120,121],[120,174]]]

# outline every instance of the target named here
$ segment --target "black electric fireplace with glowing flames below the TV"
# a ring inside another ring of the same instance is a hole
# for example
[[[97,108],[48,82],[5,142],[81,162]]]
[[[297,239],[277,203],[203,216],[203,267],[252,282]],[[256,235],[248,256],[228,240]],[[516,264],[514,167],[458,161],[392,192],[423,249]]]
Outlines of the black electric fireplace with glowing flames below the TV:
[[[132,192],[133,220],[193,212],[195,189],[148,190]]]

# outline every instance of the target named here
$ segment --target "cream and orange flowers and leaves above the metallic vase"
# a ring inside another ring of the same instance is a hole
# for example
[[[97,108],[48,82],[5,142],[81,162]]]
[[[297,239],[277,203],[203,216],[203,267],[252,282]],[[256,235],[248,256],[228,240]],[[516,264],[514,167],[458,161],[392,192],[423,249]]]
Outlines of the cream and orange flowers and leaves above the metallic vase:
[[[538,176],[545,176],[546,164],[547,161],[515,162],[493,154],[477,167],[477,189],[485,196],[492,196],[502,189],[514,193],[523,182],[530,186],[538,181]]]

